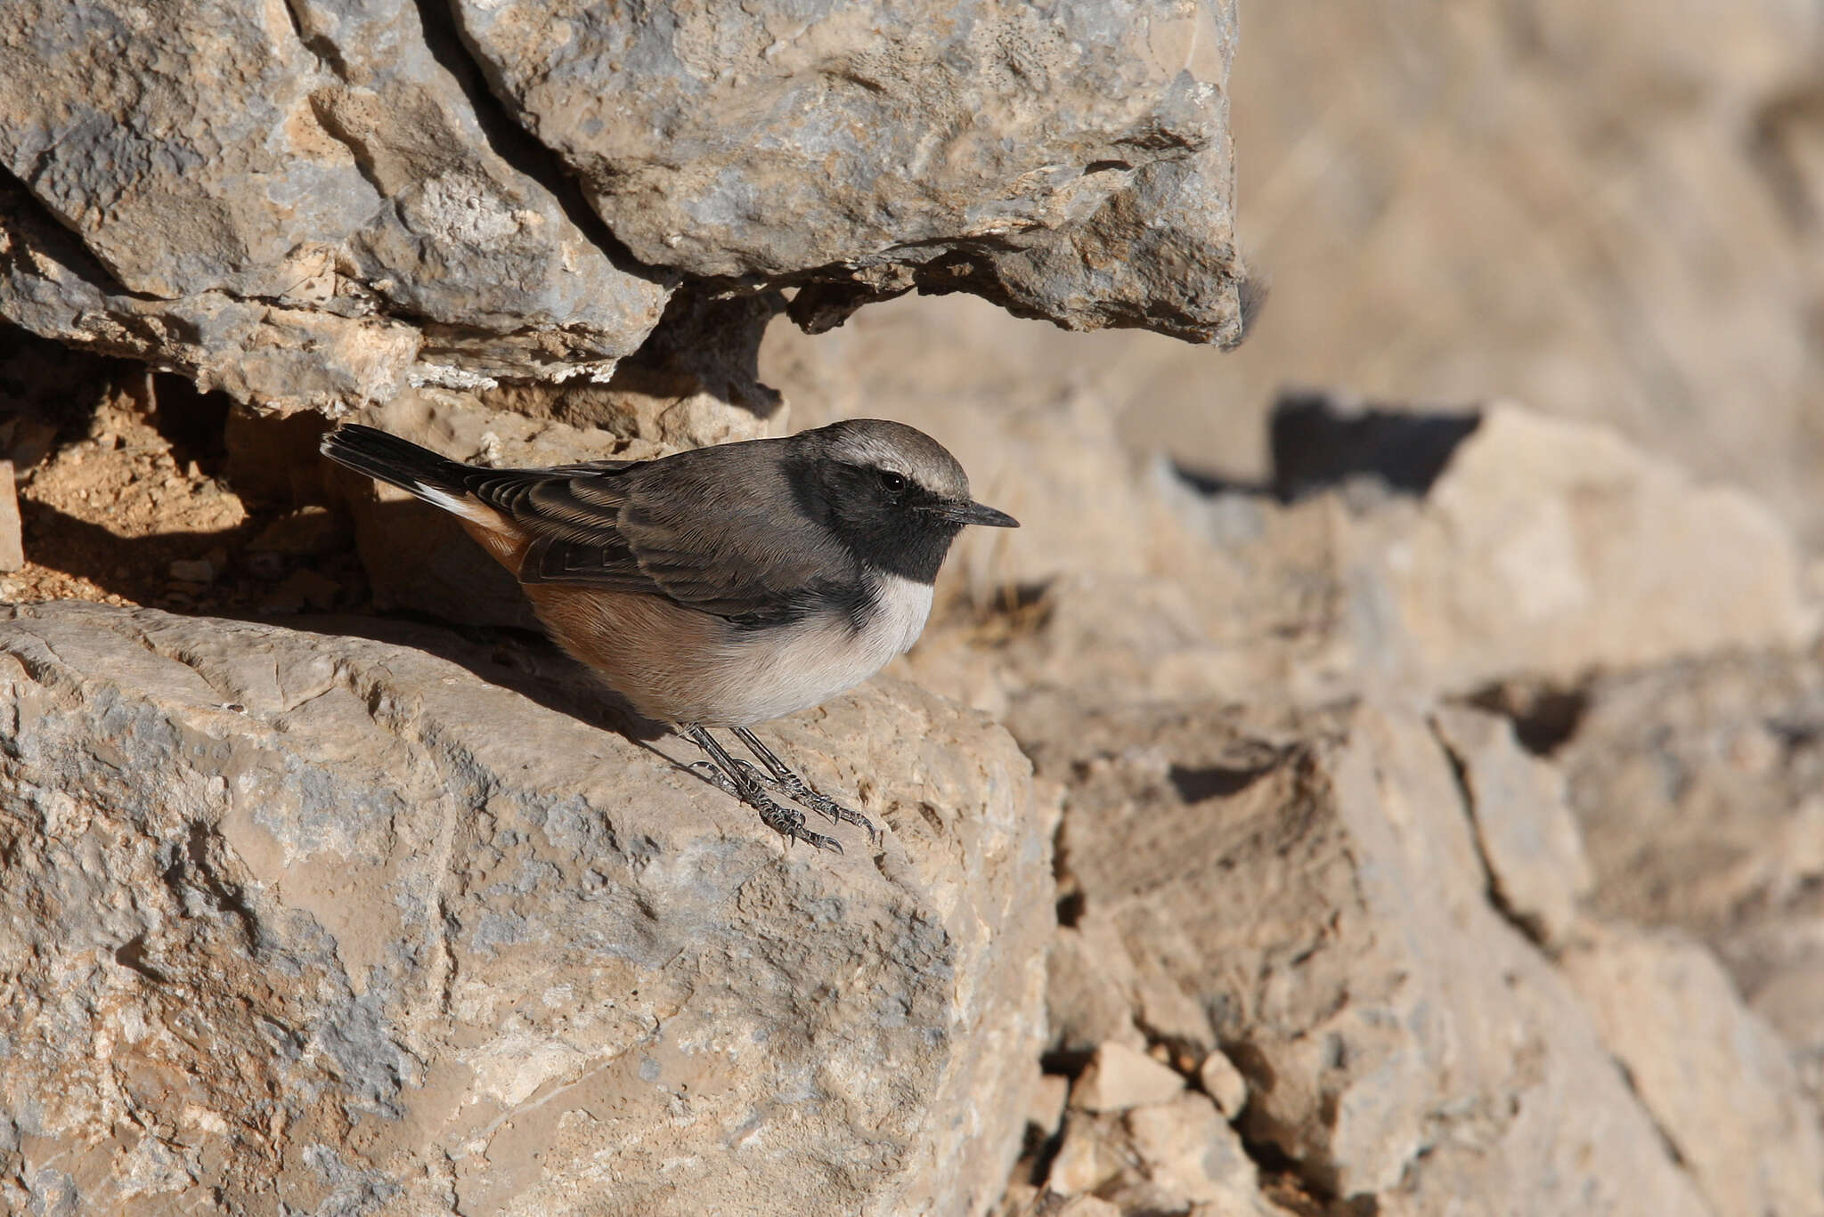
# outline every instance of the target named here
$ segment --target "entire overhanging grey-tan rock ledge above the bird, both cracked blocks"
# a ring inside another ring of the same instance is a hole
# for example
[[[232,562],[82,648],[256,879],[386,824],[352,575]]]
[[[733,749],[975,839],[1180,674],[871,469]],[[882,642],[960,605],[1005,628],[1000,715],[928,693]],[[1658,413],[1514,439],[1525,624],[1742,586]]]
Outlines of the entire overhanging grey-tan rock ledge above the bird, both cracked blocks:
[[[824,9],[7,5],[0,316],[281,412],[606,381],[702,276],[1238,338],[1231,0]]]

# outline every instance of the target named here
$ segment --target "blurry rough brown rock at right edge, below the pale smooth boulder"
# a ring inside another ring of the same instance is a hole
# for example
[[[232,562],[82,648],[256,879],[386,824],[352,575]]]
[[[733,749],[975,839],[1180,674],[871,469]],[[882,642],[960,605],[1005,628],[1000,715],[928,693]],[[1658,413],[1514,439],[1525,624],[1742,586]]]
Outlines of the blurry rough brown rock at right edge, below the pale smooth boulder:
[[[1824,1104],[1824,662],[1764,651],[1598,679],[1554,754],[1611,920],[1707,943]]]

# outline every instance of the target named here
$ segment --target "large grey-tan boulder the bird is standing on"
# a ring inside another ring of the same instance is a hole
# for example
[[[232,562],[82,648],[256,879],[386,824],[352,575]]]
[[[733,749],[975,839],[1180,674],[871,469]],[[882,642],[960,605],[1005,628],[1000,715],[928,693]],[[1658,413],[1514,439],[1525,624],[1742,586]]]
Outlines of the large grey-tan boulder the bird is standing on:
[[[7,617],[7,1208],[1000,1195],[1049,825],[979,717],[883,684],[768,728],[886,828],[814,856],[573,717],[598,702],[545,650]]]

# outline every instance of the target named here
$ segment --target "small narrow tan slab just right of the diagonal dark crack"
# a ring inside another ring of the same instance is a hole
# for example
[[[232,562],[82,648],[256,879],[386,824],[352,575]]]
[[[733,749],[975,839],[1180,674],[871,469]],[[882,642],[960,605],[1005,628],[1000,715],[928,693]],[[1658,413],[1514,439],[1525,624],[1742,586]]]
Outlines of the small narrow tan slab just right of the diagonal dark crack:
[[[1463,775],[1496,901],[1541,943],[1561,943],[1591,885],[1563,774],[1529,755],[1501,715],[1446,706],[1432,724]]]

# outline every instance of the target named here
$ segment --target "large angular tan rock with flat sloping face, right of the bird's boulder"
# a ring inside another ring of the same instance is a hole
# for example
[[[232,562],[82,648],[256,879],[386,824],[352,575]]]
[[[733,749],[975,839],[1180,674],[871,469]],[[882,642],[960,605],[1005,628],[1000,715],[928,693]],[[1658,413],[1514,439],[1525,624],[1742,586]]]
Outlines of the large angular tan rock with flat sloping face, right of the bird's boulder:
[[[1180,929],[1160,958],[1248,1078],[1242,1133],[1306,1186],[1401,1213],[1705,1212],[1578,996],[1487,903],[1423,717],[1058,693],[1010,724],[1067,786],[1085,912],[1129,941]]]

